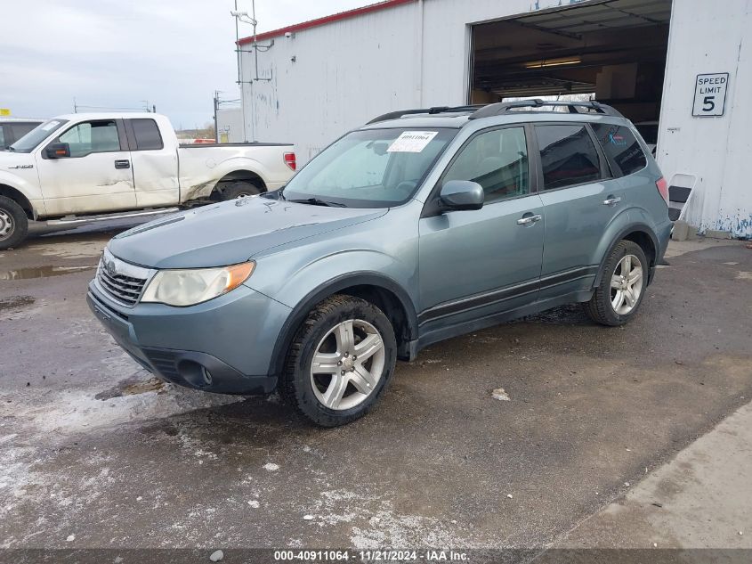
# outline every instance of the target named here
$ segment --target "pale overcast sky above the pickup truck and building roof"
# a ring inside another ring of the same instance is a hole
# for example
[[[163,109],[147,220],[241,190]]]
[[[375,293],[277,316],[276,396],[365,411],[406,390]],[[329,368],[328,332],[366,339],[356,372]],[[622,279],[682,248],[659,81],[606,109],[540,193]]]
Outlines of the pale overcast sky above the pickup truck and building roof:
[[[251,0],[238,0],[251,12]],[[2,0],[0,108],[49,118],[79,105],[157,105],[174,127],[212,119],[212,93],[238,98],[233,0]],[[256,0],[258,31],[373,4]],[[241,37],[251,35],[242,25]]]

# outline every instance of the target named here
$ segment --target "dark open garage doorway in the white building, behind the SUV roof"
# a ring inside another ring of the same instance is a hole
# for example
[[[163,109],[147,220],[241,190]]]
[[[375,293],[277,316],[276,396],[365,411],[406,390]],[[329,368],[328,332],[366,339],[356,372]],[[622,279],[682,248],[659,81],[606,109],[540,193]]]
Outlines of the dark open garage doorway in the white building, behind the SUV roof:
[[[670,20],[671,0],[609,0],[474,25],[470,102],[594,98],[655,143]]]

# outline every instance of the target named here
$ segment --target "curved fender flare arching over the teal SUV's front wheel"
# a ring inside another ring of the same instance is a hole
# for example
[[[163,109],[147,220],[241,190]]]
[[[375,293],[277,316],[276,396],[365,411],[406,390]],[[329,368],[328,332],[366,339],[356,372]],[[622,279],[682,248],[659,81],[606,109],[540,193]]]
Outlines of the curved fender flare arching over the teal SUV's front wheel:
[[[303,323],[303,320],[309,314],[312,307],[327,297],[336,294],[345,288],[350,288],[351,286],[375,286],[376,288],[391,291],[392,294],[400,300],[400,305],[405,312],[408,325],[408,339],[417,339],[418,329],[416,309],[413,305],[412,299],[408,296],[408,293],[402,289],[400,284],[394,282],[392,278],[384,276],[384,274],[373,272],[343,274],[342,276],[338,276],[332,280],[319,284],[319,286],[306,294],[305,298],[300,300],[300,302],[298,302],[293,308],[290,315],[287,316],[287,320],[285,320],[285,323],[282,325],[282,330],[279,331],[279,337],[272,352],[271,366],[269,369],[271,375],[277,375],[281,372],[282,366],[285,362],[285,356],[287,355],[287,349],[295,338],[295,331],[297,331],[300,324]]]

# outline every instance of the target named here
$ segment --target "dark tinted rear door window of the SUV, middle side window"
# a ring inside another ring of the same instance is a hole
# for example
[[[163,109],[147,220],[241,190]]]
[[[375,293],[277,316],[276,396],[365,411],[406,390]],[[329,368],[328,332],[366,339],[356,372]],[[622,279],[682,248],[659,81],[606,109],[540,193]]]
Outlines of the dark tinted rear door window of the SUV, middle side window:
[[[535,127],[543,168],[544,190],[587,184],[601,179],[601,159],[584,125]]]

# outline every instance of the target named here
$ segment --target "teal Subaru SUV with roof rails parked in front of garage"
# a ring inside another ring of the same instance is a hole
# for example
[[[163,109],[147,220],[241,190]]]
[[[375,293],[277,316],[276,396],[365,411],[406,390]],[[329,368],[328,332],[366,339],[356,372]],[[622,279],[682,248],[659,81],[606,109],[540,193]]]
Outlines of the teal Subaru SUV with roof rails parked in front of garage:
[[[441,339],[571,302],[627,323],[670,230],[667,184],[608,106],[405,110],[283,189],[117,235],[87,298],[164,380],[279,390],[336,426]]]

